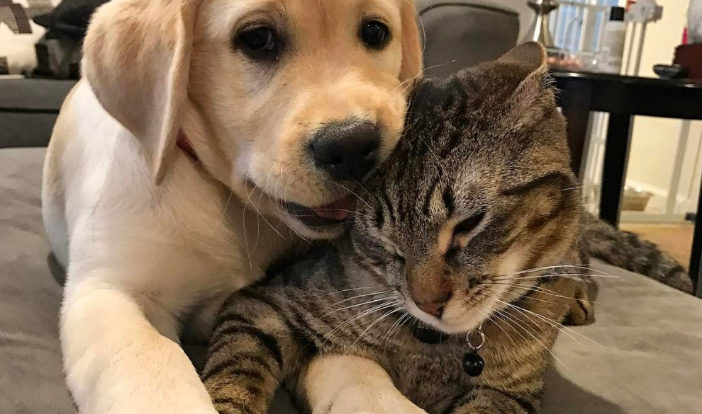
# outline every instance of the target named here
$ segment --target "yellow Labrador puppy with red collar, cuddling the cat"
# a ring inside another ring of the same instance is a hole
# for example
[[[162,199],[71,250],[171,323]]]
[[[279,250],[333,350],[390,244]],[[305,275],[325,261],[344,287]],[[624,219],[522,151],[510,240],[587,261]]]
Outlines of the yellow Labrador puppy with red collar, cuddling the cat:
[[[43,187],[83,414],[215,413],[179,338],[206,338],[223,298],[303,238],[340,233],[357,182],[399,139],[420,54],[410,0],[99,8]],[[401,406],[356,363],[313,369],[335,379],[313,403]]]

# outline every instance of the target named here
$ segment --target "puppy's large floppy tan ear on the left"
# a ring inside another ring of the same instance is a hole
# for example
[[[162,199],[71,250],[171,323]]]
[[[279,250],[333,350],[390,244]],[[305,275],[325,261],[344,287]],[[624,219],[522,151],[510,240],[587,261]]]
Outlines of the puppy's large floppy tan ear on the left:
[[[156,182],[175,151],[200,0],[112,0],[93,16],[82,72],[145,148]]]

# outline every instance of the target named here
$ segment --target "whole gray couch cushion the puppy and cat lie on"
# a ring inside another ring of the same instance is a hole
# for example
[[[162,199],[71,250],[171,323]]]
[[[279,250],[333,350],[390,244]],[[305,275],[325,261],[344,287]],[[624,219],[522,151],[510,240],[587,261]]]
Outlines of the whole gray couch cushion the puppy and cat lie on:
[[[61,289],[41,224],[43,154],[0,150],[2,414],[74,413],[57,339]],[[618,278],[599,280],[596,323],[559,338],[562,363],[547,382],[545,413],[698,413],[702,301],[641,275],[596,268]],[[274,412],[291,413],[282,397]]]

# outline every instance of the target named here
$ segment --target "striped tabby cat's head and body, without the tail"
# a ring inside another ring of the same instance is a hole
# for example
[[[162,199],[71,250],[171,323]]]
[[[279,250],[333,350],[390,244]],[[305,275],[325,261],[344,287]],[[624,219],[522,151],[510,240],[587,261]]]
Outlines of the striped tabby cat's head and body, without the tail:
[[[350,354],[428,413],[539,412],[560,324],[592,318],[577,186],[540,45],[420,81],[347,236],[225,304],[202,376],[216,408],[267,413],[283,382],[304,401],[308,363]]]

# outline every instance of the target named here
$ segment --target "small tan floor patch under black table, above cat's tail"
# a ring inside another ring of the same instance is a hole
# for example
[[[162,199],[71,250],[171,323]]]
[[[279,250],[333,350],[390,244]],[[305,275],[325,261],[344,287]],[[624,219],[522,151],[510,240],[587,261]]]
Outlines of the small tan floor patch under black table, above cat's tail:
[[[685,267],[690,262],[692,224],[620,224],[620,227],[656,243]]]

